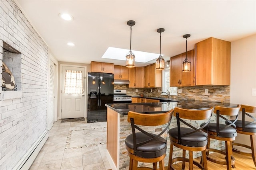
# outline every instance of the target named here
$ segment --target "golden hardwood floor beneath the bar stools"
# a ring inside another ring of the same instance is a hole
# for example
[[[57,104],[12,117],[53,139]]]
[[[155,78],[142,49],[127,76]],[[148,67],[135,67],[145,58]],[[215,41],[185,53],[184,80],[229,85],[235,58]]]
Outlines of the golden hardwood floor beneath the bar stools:
[[[224,156],[222,154],[218,154],[218,153],[213,153],[211,154],[212,158],[217,159],[217,157],[220,158],[224,158]],[[241,155],[238,153],[233,152],[233,156],[235,157],[235,165],[236,168],[232,168],[232,170],[256,170],[256,167],[254,166],[253,160],[251,156],[245,156],[245,155]],[[200,162],[201,158],[196,158],[194,160]],[[181,163],[178,163],[175,165],[175,168],[177,168],[178,170],[181,169]],[[208,166],[208,170],[226,170],[226,165],[220,165],[220,164],[216,164],[213,162],[210,162],[209,160],[207,160],[207,166]],[[194,170],[200,170],[199,168],[197,168],[196,166],[193,167]],[[167,170],[167,167],[165,167],[165,170]],[[188,170],[188,163],[186,162],[186,167],[185,170]]]

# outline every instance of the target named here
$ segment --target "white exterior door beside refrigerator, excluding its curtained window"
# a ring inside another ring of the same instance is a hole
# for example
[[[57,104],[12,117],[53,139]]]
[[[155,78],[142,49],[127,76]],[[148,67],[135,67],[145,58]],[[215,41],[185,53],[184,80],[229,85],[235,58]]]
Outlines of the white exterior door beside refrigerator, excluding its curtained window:
[[[83,92],[72,94],[65,91],[66,72],[81,71]],[[84,89],[86,67],[62,66],[61,119],[84,117]]]

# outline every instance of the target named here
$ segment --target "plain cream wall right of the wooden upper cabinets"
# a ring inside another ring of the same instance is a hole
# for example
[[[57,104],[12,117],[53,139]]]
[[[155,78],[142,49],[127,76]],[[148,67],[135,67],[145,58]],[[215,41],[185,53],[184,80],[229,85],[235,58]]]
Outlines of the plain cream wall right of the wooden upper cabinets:
[[[230,81],[230,103],[256,106],[256,34],[231,42]],[[237,134],[236,142],[250,146],[250,136]]]

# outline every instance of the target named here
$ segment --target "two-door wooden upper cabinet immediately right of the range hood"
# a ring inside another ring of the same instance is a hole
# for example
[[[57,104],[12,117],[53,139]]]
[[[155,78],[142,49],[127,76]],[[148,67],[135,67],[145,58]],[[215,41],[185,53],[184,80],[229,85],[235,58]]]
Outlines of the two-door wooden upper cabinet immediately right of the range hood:
[[[144,88],[144,67],[129,68],[129,88]]]

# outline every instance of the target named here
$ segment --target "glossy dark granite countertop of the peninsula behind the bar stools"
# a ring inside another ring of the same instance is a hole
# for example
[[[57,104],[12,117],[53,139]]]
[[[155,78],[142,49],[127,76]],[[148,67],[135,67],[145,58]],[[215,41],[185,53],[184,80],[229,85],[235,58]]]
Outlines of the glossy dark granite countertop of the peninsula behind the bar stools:
[[[127,115],[128,111],[135,111],[138,113],[164,113],[170,109],[174,109],[174,107],[184,109],[204,109],[215,106],[232,107],[237,106],[237,104],[183,100],[178,102],[105,104],[105,106],[110,107],[121,115]]]

